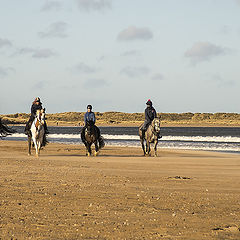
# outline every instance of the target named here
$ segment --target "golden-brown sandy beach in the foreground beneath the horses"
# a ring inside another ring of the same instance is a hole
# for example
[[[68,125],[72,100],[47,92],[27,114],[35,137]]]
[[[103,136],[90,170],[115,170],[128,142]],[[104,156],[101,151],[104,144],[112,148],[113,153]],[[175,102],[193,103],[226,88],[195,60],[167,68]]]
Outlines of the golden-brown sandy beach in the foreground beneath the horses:
[[[240,155],[0,141],[0,239],[240,239]]]

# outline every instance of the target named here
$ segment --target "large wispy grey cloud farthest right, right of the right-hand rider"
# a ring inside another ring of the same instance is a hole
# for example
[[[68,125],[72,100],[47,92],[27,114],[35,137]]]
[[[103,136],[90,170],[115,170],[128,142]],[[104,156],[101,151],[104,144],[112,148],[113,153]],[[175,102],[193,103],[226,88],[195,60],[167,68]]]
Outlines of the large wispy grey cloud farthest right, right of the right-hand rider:
[[[214,57],[222,56],[230,51],[228,48],[217,46],[209,42],[197,42],[185,52],[185,57],[189,58],[193,64],[209,61]]]

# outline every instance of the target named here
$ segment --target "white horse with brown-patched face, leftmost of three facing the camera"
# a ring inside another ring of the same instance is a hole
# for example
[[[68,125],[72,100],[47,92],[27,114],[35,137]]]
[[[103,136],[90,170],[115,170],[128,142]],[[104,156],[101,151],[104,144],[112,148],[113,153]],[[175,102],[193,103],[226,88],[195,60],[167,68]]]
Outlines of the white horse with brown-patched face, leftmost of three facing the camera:
[[[28,155],[31,155],[31,140],[34,143],[36,149],[36,156],[40,154],[40,148],[43,143],[43,136],[45,133],[44,130],[45,123],[45,108],[37,110],[35,119],[31,125],[30,131],[31,136],[28,137]]]

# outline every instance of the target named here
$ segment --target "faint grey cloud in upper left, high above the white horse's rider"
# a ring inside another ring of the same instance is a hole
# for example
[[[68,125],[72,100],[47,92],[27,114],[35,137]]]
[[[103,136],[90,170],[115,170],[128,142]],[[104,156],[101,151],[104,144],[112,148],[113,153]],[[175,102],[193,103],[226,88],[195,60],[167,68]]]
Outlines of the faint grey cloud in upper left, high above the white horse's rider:
[[[46,31],[39,32],[41,38],[66,38],[68,24],[65,22],[52,23]]]

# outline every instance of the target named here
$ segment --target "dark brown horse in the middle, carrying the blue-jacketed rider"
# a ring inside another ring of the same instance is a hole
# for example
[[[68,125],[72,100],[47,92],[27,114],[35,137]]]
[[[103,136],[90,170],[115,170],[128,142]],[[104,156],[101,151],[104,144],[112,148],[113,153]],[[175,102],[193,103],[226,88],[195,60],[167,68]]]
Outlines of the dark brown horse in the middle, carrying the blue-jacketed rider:
[[[98,128],[94,125],[92,121],[89,121],[89,122],[86,122],[85,130],[83,131],[85,131],[84,136],[86,141],[84,144],[86,146],[86,155],[91,156],[92,154],[91,146],[94,143],[95,145],[94,155],[97,156],[99,154],[99,149],[104,147],[104,142]],[[99,140],[100,140],[100,147],[98,143]]]

